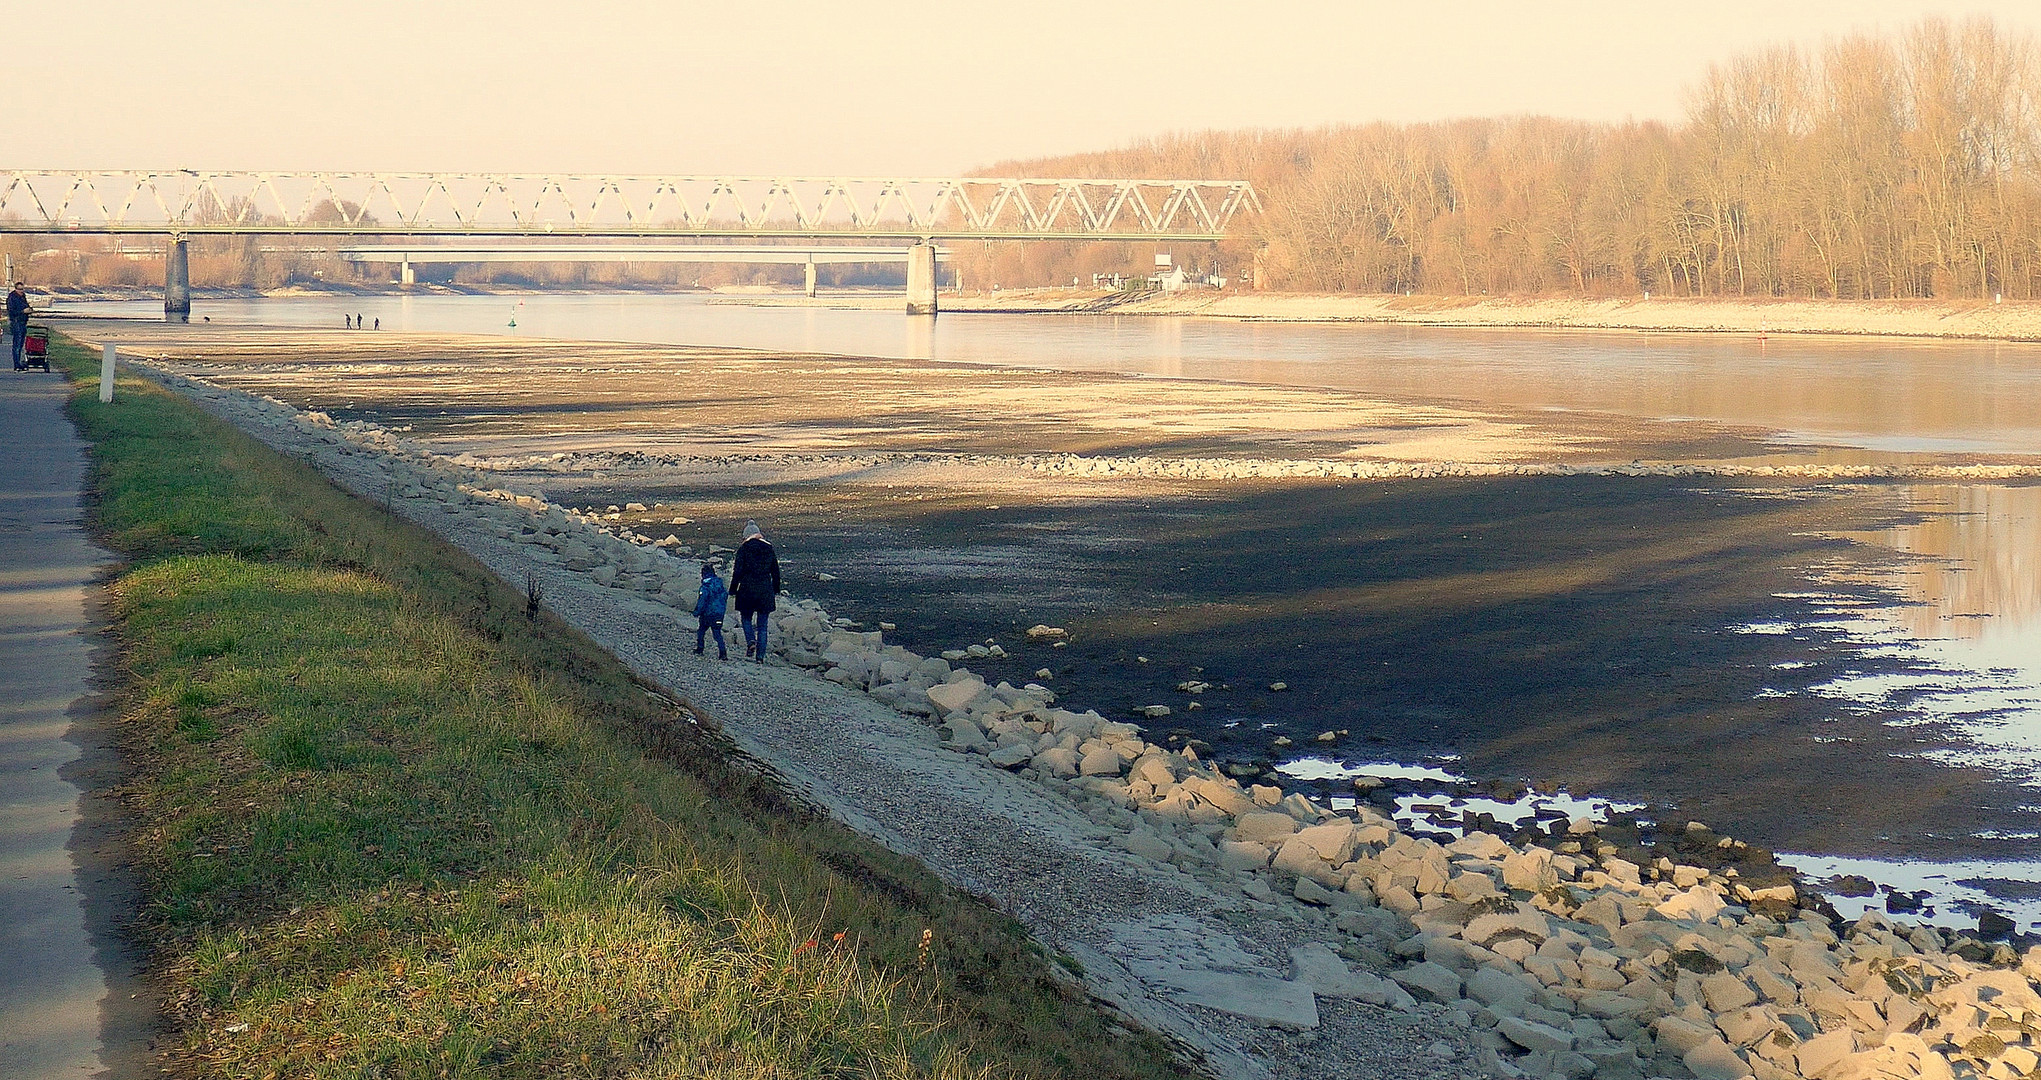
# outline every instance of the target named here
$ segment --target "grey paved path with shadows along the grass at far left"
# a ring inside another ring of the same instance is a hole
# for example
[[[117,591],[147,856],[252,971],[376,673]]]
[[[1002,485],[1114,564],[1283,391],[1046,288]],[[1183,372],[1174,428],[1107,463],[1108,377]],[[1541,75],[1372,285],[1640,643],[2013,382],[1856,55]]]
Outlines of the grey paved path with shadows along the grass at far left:
[[[112,751],[86,698],[96,576],[86,447],[63,376],[0,367],[0,1076],[133,1076],[125,882],[92,790]]]

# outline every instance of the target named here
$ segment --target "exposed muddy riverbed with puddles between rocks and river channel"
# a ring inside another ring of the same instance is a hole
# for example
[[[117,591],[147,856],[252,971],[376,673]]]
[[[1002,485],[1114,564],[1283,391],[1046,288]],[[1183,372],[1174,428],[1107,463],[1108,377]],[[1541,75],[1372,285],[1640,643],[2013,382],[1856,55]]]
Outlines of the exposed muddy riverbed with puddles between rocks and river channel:
[[[916,651],[996,639],[1012,670],[974,661],[988,676],[1049,668],[1059,694],[1108,713],[1172,704],[1167,725],[1237,762],[1455,755],[1465,776],[1678,802],[1784,849],[2000,868],[2041,849],[2025,786],[2041,729],[2041,604],[2025,561],[2037,488],[1821,476],[1863,461],[2031,463],[2021,408],[2033,398],[1994,404],[1984,425],[1965,421],[1982,406],[1951,398],[1953,412],[1910,429],[1872,416],[1782,437],[1735,408],[1696,419],[1329,386],[1359,380],[1351,365],[1270,388],[376,339],[333,323],[267,343],[137,337],[220,363],[208,372],[220,382],[500,461],[561,502],[688,508],[686,525],[625,514],[647,535],[706,547],[759,517],[794,588],[837,615],[894,621],[890,637]],[[1388,331],[1384,351],[1425,345],[1410,333]],[[1506,333],[1490,341],[1525,349]],[[1565,384],[1586,351],[1567,341],[1549,382]],[[1929,367],[1955,380],[1963,363]],[[1416,357],[1384,365],[1416,370]],[[1506,363],[1521,384],[1527,365]],[[1980,376],[1986,396],[2033,370],[2033,355],[2002,353]],[[1461,390],[1482,386],[1500,384]],[[1949,435],[1963,425],[1970,435]],[[1825,427],[1865,431],[1851,441]],[[1098,480],[1014,465],[1031,453],[1800,472]],[[1072,643],[1029,645],[1033,623],[1067,627]],[[1178,690],[1198,682],[1208,688]]]

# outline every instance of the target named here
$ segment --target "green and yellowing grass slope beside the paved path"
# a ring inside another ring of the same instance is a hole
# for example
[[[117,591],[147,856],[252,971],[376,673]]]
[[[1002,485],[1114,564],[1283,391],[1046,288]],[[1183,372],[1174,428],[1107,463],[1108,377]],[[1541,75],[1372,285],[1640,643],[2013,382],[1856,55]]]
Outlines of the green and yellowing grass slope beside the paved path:
[[[141,380],[94,443],[184,1076],[1167,1076],[476,561]]]

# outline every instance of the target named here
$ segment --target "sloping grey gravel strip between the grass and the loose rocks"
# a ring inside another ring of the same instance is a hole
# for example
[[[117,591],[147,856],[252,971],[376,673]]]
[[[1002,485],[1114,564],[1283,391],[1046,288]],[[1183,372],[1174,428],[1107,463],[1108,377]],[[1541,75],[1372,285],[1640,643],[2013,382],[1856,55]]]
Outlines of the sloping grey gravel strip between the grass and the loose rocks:
[[[167,374],[161,382],[273,449],[316,463],[357,494],[382,500],[390,490],[376,453],[337,451],[316,429],[294,425],[294,410],[280,402]],[[1153,964],[1155,947],[1174,964],[1188,964],[1192,955],[1233,945],[1259,964],[1233,970],[1251,986],[1270,986],[1288,978],[1292,945],[1337,945],[1341,935],[1302,904],[1249,900],[1223,878],[1157,868],[1114,849],[1112,833],[1053,788],[943,749],[935,731],[863,694],[778,664],[704,661],[692,655],[692,619],[537,561],[525,545],[461,529],[463,519],[439,502],[396,500],[396,510],[506,582],[535,574],[549,608],[639,676],[708,710],[794,792],[1014,915],[1051,953],[1080,962],[1082,980],[1098,1000],[1159,1031],[1206,1072],[1390,1080],[1492,1072],[1492,1051],[1472,1041],[1465,1015],[1443,1007],[1398,1013],[1318,996],[1316,1023],[1284,1031],[1188,1004],[1184,994],[1137,974],[1145,962]]]

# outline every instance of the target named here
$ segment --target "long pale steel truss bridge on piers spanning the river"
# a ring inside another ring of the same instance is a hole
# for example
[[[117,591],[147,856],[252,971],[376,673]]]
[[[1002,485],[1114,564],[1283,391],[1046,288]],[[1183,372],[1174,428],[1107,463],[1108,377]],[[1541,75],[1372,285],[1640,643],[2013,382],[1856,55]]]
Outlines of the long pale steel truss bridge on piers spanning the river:
[[[892,243],[908,312],[935,314],[937,241],[1212,243],[1259,210],[1245,180],[0,171],[0,233],[169,237],[169,318],[202,235]]]

